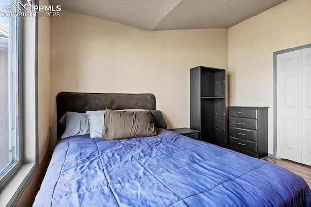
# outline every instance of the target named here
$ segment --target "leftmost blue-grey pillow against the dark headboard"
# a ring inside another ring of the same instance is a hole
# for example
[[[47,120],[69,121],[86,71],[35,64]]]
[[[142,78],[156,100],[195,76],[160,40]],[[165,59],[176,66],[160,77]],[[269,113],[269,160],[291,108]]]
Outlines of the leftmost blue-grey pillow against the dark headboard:
[[[66,112],[58,121],[65,125],[65,132],[61,139],[77,135],[89,134],[89,124],[86,113]]]

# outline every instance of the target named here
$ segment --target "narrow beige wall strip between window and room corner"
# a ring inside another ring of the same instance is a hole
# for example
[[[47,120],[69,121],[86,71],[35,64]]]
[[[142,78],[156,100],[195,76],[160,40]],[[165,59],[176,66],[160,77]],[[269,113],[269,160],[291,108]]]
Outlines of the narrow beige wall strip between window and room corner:
[[[40,0],[40,5],[49,5]],[[17,206],[31,206],[50,160],[50,18],[38,18],[38,140],[39,167],[21,195]]]

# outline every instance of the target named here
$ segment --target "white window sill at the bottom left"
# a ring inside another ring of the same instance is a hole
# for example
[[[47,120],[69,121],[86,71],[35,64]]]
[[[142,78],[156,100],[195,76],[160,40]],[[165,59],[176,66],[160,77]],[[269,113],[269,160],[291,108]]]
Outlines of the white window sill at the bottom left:
[[[23,164],[17,171],[16,175],[0,192],[0,206],[14,206],[26,188],[29,180],[34,175],[37,164]]]

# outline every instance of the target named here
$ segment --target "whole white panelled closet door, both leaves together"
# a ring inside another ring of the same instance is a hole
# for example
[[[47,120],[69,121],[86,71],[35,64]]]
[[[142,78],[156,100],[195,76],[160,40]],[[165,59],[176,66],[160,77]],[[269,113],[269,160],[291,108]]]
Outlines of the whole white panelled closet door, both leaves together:
[[[276,58],[276,156],[311,166],[311,48]]]

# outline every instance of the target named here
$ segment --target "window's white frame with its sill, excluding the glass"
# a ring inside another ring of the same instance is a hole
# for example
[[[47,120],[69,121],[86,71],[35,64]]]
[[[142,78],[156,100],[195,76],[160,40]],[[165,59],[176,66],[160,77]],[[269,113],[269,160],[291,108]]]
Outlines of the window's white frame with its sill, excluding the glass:
[[[38,0],[17,0],[25,4],[26,2],[31,2],[33,6],[38,5]],[[24,11],[27,12],[27,11]],[[7,175],[3,176],[0,183],[0,206],[15,206],[19,197],[25,190],[27,184],[29,183],[32,176],[35,174],[35,171],[38,167],[38,16],[34,17],[34,48],[32,48],[31,56],[31,75],[27,73],[28,67],[25,58],[29,58],[27,51],[24,47],[27,41],[26,35],[26,26],[25,26],[25,17],[19,17],[19,52],[18,52],[18,89],[19,89],[19,102],[18,102],[18,116],[19,116],[19,157],[20,161],[16,164]],[[25,26],[25,27],[24,27]],[[25,72],[26,71],[26,72]],[[25,74],[27,73],[27,74]],[[27,80],[27,77],[31,77],[31,80]],[[33,82],[33,85],[25,89],[25,83]],[[27,96],[26,92],[27,91]],[[31,93],[31,98],[29,94]],[[30,104],[28,102],[31,102]],[[32,114],[31,117],[28,117],[27,109],[25,107],[32,106],[32,111],[35,114]],[[31,131],[29,136],[27,133],[27,128],[25,125],[29,125],[28,122],[31,122]],[[25,132],[26,129],[26,132]],[[34,145],[34,146],[33,146]],[[31,146],[31,147],[30,147]],[[35,152],[34,152],[35,149]],[[31,155],[29,155],[31,154]]]

